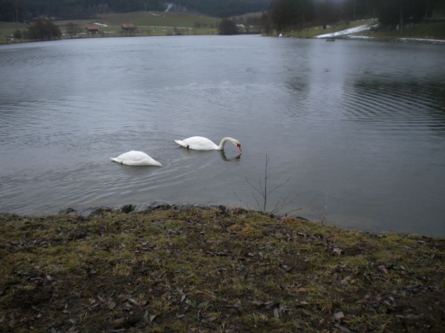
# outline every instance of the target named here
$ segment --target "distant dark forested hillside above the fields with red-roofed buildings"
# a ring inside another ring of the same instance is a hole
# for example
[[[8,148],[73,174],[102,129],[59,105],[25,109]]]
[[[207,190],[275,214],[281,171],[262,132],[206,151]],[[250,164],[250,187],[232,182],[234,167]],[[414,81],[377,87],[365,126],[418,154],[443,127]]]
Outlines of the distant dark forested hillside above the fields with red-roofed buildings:
[[[110,12],[186,10],[215,17],[267,10],[270,0],[0,0],[0,21],[22,22],[41,15],[81,19]]]

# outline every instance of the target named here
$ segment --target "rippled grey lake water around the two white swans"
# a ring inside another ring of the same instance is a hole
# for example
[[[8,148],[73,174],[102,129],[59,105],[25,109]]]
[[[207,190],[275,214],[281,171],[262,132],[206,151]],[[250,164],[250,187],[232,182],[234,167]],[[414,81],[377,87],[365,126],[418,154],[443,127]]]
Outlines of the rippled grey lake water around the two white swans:
[[[241,158],[179,148],[239,139]],[[113,163],[145,151],[163,167]],[[0,46],[0,211],[168,200],[445,236],[445,48],[259,36]],[[290,179],[286,181],[288,178]]]

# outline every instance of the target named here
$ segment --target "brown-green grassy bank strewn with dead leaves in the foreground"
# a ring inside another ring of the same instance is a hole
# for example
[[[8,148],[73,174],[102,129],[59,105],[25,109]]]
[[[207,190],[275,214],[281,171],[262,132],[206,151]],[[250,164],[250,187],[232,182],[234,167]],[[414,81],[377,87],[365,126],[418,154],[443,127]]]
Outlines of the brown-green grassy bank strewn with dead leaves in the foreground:
[[[244,210],[0,215],[1,332],[444,332],[445,240]]]

